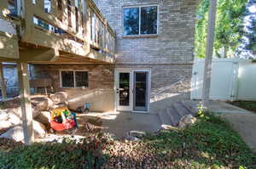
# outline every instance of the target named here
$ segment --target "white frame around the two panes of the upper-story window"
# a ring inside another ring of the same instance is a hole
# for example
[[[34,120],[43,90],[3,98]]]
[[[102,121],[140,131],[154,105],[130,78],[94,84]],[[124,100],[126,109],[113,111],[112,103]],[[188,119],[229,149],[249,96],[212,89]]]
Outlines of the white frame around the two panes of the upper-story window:
[[[141,34],[141,20],[142,20],[142,17],[141,17],[141,8],[143,7],[156,7],[157,8],[157,25],[156,25],[156,34]],[[125,35],[125,22],[124,22],[124,9],[125,8],[139,8],[139,33],[137,35]],[[137,5],[137,6],[124,6],[122,8],[122,22],[123,22],[123,36],[124,37],[142,37],[142,36],[157,36],[159,35],[159,5],[158,4],[149,4],[149,5]]]

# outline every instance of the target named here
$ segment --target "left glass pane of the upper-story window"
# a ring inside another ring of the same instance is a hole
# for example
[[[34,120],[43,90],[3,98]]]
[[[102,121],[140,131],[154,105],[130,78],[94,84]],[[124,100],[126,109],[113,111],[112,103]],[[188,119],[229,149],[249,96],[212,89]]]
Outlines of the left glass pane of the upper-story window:
[[[124,35],[139,34],[139,8],[124,8]]]

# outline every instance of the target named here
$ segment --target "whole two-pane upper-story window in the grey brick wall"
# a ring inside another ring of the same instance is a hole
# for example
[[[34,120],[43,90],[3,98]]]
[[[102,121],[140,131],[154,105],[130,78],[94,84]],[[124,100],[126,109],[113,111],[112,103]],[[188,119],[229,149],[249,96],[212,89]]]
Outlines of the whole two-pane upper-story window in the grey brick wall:
[[[157,34],[157,6],[124,8],[123,19],[124,36]]]

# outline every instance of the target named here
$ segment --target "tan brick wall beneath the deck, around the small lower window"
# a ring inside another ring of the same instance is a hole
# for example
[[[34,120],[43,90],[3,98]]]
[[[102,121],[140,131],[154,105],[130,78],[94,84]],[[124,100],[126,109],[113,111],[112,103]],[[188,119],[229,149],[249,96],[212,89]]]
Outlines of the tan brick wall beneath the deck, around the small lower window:
[[[86,70],[89,75],[88,88],[61,88],[60,70]],[[51,78],[55,92],[67,92],[70,109],[74,110],[85,102],[90,110],[114,110],[113,71],[111,65],[33,65],[33,78]]]

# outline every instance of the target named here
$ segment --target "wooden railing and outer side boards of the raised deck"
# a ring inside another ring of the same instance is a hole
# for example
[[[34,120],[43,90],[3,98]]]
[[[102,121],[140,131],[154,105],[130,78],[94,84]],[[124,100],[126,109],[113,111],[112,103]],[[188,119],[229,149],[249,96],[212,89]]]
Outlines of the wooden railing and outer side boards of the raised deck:
[[[114,55],[114,31],[91,0],[1,0],[0,7],[21,20],[21,42],[82,56],[90,48]]]

